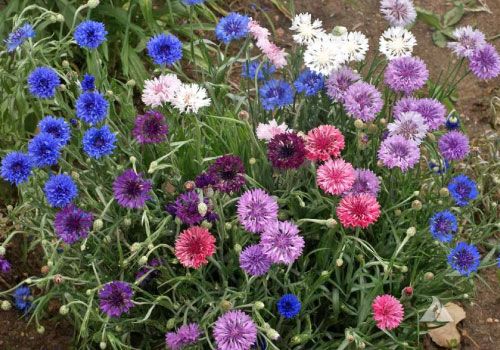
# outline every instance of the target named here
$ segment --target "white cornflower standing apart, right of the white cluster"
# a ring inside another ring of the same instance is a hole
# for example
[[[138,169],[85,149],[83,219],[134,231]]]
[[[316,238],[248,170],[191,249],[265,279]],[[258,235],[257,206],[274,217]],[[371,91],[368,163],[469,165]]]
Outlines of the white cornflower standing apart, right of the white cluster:
[[[411,32],[402,27],[391,27],[380,37],[380,52],[389,60],[394,58],[411,56],[413,46],[417,40]]]

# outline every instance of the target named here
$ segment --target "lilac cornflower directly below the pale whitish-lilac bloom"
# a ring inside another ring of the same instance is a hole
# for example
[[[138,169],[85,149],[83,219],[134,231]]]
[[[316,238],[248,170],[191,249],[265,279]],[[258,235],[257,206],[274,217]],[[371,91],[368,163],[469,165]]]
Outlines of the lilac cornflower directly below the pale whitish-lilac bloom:
[[[389,136],[380,145],[378,158],[389,169],[398,167],[406,172],[418,163],[420,149],[414,141],[403,136]]]

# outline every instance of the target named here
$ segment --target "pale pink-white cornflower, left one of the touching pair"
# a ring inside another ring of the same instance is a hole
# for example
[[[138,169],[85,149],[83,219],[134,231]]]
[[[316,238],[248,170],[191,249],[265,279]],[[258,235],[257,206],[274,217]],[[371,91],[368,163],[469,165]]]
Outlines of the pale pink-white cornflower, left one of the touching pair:
[[[165,102],[172,102],[175,92],[182,82],[175,74],[160,75],[158,78],[146,80],[142,90],[142,102],[149,107],[159,107]]]

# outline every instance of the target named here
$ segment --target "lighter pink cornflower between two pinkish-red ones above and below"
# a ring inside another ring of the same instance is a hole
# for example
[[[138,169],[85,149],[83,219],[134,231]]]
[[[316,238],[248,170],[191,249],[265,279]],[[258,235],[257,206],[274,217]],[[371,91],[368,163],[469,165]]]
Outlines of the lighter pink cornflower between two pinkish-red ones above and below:
[[[356,179],[356,172],[350,163],[343,159],[328,160],[316,173],[318,186],[333,195],[349,191]]]

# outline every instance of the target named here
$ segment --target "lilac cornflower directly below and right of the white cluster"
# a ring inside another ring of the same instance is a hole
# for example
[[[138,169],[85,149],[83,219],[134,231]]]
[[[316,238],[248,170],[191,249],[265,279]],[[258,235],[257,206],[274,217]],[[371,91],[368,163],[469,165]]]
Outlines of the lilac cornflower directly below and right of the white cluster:
[[[382,95],[375,86],[358,81],[351,85],[344,95],[344,108],[353,118],[369,122],[382,110]]]

